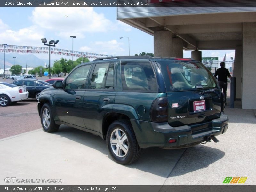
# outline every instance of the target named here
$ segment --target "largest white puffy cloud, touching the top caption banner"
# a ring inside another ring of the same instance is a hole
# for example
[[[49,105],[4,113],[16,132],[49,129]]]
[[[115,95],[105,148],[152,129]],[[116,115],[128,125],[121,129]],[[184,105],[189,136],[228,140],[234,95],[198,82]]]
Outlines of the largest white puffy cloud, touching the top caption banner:
[[[81,38],[86,32],[106,32],[114,25],[103,14],[96,13],[93,7],[36,7],[31,20],[41,28],[63,37],[72,34]]]

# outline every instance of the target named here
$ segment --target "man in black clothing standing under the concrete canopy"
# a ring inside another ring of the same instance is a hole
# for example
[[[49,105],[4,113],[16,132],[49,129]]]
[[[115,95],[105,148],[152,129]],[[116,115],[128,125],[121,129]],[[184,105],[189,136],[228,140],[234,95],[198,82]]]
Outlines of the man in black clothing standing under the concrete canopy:
[[[225,95],[225,103],[227,105],[226,99],[227,99],[227,87],[228,87],[228,79],[231,80],[231,75],[228,71],[228,69],[225,68],[225,62],[220,63],[220,68],[216,70],[214,74],[215,78],[218,76],[218,83],[220,85],[220,89],[223,89],[223,93]]]

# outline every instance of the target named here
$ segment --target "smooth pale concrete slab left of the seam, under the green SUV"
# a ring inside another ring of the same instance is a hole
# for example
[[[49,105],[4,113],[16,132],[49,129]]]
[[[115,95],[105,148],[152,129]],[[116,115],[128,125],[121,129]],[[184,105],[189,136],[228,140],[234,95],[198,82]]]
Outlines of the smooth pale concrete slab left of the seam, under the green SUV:
[[[61,125],[56,133],[40,129],[0,140],[0,185],[19,184],[5,183],[6,177],[62,179],[62,185],[163,185],[183,152],[144,149],[138,162],[124,166],[111,159],[105,140]]]

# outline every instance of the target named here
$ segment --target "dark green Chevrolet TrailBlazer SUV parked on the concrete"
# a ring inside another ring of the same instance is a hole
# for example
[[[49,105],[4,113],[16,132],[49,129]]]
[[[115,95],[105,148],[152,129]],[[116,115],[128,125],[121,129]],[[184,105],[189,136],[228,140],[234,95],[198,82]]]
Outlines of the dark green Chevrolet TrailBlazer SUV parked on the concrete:
[[[223,94],[200,62],[122,56],[95,59],[41,92],[38,112],[46,132],[60,124],[107,140],[120,164],[141,148],[185,148],[213,140],[228,128]]]

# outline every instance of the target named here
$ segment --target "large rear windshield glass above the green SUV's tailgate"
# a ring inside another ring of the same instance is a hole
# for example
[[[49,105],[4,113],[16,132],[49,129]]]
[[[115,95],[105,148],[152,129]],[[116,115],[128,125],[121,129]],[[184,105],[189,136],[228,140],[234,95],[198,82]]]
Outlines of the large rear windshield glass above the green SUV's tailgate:
[[[166,91],[188,91],[196,88],[216,88],[212,73],[203,64],[184,61],[158,61],[164,76]]]

